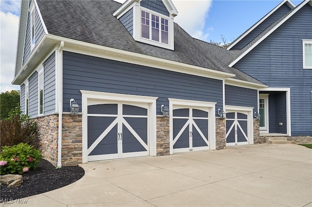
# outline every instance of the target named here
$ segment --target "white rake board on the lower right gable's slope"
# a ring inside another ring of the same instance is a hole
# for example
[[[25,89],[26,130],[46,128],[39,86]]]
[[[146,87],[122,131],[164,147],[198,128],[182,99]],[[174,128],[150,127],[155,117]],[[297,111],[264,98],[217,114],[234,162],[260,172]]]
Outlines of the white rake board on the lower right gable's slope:
[[[246,54],[248,54],[250,51],[252,51],[260,42],[262,42],[265,38],[267,38],[269,35],[271,35],[277,28],[279,28],[282,24],[284,24],[285,21],[287,21],[292,15],[294,15],[297,11],[299,11],[304,5],[306,5],[311,0],[305,0],[304,3],[299,5],[295,10],[292,11],[291,14],[289,14],[287,17],[285,17],[281,22],[279,22],[273,29],[265,34],[263,37],[261,37],[254,45],[252,45],[250,48],[248,48],[247,51],[243,52],[239,57],[237,57],[230,65],[229,67],[233,67],[240,59],[242,59]]]

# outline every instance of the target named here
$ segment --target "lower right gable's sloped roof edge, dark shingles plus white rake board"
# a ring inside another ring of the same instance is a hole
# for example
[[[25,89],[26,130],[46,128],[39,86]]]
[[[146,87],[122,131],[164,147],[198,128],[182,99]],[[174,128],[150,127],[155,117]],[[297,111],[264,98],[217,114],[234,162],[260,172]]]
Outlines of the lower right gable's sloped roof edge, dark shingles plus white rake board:
[[[254,38],[252,42],[250,42],[242,50],[240,50],[240,52],[237,53],[237,56],[234,58],[234,60],[230,63],[229,67],[233,67],[240,59],[242,59],[246,54],[252,51],[258,44],[260,44],[264,39],[266,39],[269,35],[271,35],[277,28],[279,28],[282,24],[284,24],[290,17],[296,14],[306,4],[312,6],[312,0],[304,0],[295,8],[293,8],[290,12],[288,12],[286,15],[276,20],[272,25],[270,25],[270,27],[264,30],[260,35]]]

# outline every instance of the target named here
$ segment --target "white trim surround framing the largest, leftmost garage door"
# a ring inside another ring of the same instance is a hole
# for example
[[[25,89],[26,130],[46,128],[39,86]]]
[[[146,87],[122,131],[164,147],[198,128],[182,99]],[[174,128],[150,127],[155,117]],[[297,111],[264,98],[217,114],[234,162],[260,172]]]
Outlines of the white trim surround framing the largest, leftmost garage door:
[[[80,90],[82,94],[82,163],[88,162],[88,102],[115,101],[149,104],[149,154],[156,156],[156,99],[158,97]]]

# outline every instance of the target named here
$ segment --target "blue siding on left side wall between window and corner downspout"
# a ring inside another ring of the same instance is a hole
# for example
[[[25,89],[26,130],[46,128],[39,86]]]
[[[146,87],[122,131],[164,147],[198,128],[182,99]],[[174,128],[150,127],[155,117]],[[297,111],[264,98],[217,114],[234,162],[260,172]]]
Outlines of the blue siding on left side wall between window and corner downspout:
[[[44,114],[55,112],[55,52],[44,62]]]

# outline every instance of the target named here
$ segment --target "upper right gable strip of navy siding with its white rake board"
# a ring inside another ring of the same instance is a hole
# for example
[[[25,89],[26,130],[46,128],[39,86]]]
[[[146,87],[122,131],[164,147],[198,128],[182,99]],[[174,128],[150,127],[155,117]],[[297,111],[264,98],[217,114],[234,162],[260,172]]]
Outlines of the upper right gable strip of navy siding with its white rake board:
[[[273,10],[271,10],[267,15],[262,17],[257,21],[252,27],[250,27],[246,32],[237,37],[228,47],[227,50],[240,50],[254,39],[257,35],[261,34],[270,24],[276,21],[278,18],[285,15],[295,5],[290,0],[283,0],[279,3]]]

